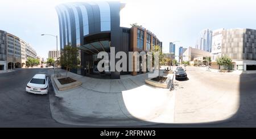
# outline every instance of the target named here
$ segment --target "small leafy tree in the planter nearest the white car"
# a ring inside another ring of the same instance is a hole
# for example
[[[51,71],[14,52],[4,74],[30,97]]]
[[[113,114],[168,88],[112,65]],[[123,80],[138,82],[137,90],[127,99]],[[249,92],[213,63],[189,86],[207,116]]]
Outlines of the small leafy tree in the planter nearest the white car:
[[[68,77],[68,72],[71,69],[78,68],[80,65],[79,49],[76,47],[71,47],[67,45],[64,47],[63,51],[60,54],[60,64],[66,68],[66,80]]]

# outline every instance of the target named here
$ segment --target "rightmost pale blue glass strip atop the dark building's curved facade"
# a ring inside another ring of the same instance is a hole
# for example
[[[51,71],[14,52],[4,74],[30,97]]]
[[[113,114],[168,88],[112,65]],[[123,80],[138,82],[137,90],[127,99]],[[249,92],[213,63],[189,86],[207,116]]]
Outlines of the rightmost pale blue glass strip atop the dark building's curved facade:
[[[108,2],[97,2],[101,16],[101,31],[111,30],[110,6]]]

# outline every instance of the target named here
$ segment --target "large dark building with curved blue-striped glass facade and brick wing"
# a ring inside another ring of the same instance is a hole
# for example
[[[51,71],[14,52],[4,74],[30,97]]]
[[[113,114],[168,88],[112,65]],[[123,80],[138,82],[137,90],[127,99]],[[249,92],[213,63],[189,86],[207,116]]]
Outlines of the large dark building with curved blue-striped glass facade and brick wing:
[[[66,45],[80,49],[81,69],[72,69],[73,73],[96,77],[118,79],[121,74],[137,75],[142,72],[141,58],[139,71],[104,71],[97,69],[99,52],[115,53],[148,52],[162,42],[154,33],[142,26],[133,24],[131,28],[120,27],[119,11],[125,7],[120,2],[75,2],[64,3],[56,7],[59,16],[60,50]],[[115,58],[118,61],[119,58]],[[127,65],[127,67],[129,67]],[[111,67],[110,67],[111,68]]]

